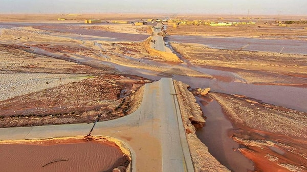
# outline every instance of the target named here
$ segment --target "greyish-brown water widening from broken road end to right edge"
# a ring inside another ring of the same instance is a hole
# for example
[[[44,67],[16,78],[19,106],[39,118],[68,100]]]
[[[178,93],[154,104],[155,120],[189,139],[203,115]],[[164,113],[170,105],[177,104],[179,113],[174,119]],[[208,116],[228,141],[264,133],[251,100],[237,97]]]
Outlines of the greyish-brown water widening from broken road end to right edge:
[[[224,82],[218,79],[184,76],[174,76],[173,79],[183,81],[194,88],[210,87],[211,91],[246,95],[264,103],[307,112],[307,88],[279,85],[253,85],[242,82]]]

